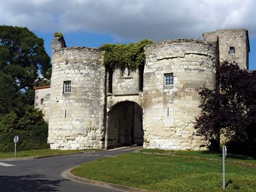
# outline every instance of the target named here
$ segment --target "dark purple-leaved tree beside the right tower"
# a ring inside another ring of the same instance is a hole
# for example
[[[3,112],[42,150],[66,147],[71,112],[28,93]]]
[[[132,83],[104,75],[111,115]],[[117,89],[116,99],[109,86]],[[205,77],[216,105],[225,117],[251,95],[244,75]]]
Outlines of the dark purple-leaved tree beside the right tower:
[[[230,141],[256,144],[256,72],[222,63],[214,90],[202,88],[196,118],[197,134],[211,138],[223,134]],[[254,145],[255,146],[255,145]]]

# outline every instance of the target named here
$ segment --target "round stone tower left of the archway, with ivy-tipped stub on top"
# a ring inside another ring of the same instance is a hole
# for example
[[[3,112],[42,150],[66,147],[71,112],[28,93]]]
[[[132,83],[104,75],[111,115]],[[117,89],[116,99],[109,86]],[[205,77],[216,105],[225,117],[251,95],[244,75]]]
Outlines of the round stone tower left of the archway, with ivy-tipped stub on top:
[[[48,143],[52,149],[102,148],[103,52],[86,47],[60,48],[56,39],[53,42]],[[64,81],[71,81],[70,93],[63,92]]]

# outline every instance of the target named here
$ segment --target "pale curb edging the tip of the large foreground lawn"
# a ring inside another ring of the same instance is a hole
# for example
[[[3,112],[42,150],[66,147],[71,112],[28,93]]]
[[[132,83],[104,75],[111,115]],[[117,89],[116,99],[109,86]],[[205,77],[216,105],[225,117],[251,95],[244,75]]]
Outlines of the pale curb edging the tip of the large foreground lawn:
[[[74,180],[76,182],[82,182],[84,184],[90,184],[90,185],[98,186],[98,187],[102,187],[102,188],[117,189],[117,190],[121,190],[121,191],[132,191],[132,192],[141,192],[141,191],[151,192],[151,191],[148,191],[145,189],[132,188],[129,186],[122,186],[122,185],[118,185],[118,184],[112,184],[109,182],[101,182],[101,181],[97,181],[97,180],[84,179],[83,177],[78,177],[71,173],[71,170],[74,168],[75,167],[70,168],[70,169],[66,170],[65,172],[61,173],[61,176],[65,177],[67,179]]]

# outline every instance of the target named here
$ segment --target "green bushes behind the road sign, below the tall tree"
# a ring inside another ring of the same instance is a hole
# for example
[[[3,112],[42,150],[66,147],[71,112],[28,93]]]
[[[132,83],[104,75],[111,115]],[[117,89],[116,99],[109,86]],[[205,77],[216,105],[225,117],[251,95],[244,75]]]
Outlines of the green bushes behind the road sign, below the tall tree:
[[[15,135],[19,136],[19,150],[48,148],[48,125],[42,116],[42,111],[27,106],[25,115],[20,118],[15,112],[0,118],[0,151],[13,150]]]

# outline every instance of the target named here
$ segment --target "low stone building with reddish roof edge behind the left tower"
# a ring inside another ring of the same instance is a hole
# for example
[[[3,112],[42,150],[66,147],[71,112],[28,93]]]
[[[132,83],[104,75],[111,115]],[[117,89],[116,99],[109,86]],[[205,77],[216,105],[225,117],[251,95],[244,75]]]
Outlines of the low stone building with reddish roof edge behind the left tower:
[[[45,122],[49,122],[51,86],[35,87],[35,108],[42,110]]]

